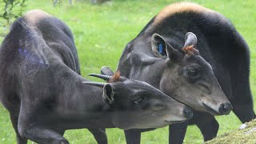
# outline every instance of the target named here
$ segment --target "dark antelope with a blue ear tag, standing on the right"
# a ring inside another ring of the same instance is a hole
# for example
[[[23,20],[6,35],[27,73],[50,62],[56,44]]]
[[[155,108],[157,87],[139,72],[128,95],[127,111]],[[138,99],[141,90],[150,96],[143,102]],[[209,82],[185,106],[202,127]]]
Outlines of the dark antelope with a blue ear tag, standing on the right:
[[[229,114],[232,106],[241,122],[255,118],[246,41],[227,18],[203,6],[166,6],[126,45],[118,70],[194,109],[190,121],[170,126],[170,143],[183,142],[188,124],[205,141],[214,138],[214,115]],[[126,130],[126,142],[139,143],[140,131]]]

